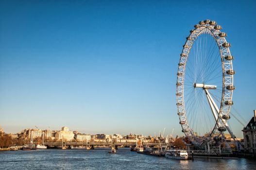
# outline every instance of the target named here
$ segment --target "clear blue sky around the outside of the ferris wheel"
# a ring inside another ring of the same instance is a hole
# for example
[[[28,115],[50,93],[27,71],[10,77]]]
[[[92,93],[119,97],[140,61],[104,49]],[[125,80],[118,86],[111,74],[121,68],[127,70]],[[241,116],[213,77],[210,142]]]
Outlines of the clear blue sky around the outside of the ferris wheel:
[[[1,0],[0,124],[182,135],[176,72],[193,25],[216,20],[235,56],[234,107],[256,109],[256,2]],[[236,114],[234,112],[234,114]],[[236,119],[230,126],[242,136]]]

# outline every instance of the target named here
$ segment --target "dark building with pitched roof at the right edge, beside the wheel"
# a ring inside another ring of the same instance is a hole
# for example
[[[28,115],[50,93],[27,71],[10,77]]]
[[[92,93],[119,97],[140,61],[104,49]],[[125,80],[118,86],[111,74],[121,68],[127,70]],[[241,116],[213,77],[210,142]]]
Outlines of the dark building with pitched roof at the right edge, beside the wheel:
[[[249,153],[256,153],[256,110],[254,110],[254,117],[243,128],[244,151]]]

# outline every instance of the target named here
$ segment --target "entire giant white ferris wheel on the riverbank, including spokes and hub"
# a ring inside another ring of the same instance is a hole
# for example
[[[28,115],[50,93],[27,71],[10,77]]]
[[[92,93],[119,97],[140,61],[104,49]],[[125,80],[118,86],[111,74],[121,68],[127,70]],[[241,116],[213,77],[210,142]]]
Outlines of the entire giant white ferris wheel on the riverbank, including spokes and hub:
[[[204,20],[194,26],[183,46],[178,64],[177,111],[187,145],[218,144],[228,131],[227,121],[233,105],[230,43],[222,26]]]

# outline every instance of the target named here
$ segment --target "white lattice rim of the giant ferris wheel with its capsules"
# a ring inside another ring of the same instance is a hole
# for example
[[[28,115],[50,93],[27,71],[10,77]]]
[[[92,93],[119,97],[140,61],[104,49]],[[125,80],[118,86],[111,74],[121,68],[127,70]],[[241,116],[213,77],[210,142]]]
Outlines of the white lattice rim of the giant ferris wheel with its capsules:
[[[215,22],[215,21],[213,21]],[[182,131],[186,136],[194,136],[193,130],[189,127],[189,123],[186,116],[186,108],[184,102],[184,79],[186,73],[186,65],[189,56],[189,52],[191,47],[197,37],[202,34],[210,34],[216,41],[219,52],[222,60],[222,100],[220,105],[220,112],[218,113],[218,120],[216,120],[216,124],[214,129],[209,134],[209,137],[213,135],[216,131],[216,126],[218,123],[218,129],[223,128],[227,119],[222,119],[223,116],[228,117],[231,105],[226,104],[226,101],[232,102],[233,89],[228,89],[228,85],[234,87],[233,85],[233,74],[228,74],[228,70],[233,70],[232,60],[227,60],[225,56],[232,56],[229,50],[230,44],[227,43],[225,36],[226,34],[222,33],[220,30],[221,26],[215,24],[203,23],[195,25],[195,29],[190,31],[189,36],[187,37],[187,41],[183,47],[180,62],[178,66],[177,72],[177,88],[176,88],[176,96],[177,96],[177,110],[178,116],[180,120],[180,124],[182,126]],[[225,36],[224,36],[225,35]],[[226,62],[227,61],[227,62]],[[225,63],[226,62],[226,63]],[[233,102],[232,102],[233,104]]]

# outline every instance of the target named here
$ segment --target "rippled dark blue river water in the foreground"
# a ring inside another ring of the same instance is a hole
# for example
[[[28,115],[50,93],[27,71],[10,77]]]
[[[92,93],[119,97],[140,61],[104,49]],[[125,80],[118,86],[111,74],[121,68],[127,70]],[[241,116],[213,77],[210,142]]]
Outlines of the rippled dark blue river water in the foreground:
[[[256,170],[250,159],[175,160],[119,148],[110,149],[0,152],[0,170]]]

